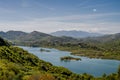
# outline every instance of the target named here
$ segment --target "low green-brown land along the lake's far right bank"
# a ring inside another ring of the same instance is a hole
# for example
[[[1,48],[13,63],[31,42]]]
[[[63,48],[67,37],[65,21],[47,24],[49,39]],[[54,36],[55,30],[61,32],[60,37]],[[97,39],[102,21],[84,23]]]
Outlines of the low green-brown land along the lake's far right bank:
[[[89,58],[116,59],[120,60],[120,41],[106,43],[61,43],[43,45],[43,47],[56,48],[70,51],[72,55],[86,56]]]

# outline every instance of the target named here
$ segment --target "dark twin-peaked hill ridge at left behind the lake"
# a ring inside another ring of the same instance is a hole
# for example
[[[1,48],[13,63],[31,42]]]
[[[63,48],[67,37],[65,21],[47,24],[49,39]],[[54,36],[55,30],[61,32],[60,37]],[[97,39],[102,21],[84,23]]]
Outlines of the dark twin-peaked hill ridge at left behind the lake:
[[[12,41],[16,45],[27,45],[27,46],[40,46],[40,45],[56,45],[68,42],[77,42],[77,39],[72,37],[56,37],[50,34],[33,31],[31,33],[25,33],[22,31],[8,31],[0,32],[0,36]]]

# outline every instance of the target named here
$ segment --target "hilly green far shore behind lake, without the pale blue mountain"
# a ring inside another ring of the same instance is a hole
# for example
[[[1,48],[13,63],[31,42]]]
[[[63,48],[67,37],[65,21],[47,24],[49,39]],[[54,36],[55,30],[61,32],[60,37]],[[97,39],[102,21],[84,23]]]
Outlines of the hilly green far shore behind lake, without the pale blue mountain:
[[[1,34],[2,35],[2,34]],[[16,37],[14,37],[14,35]],[[120,34],[106,35],[74,39],[71,37],[55,37],[49,34],[33,31],[24,33],[20,31],[9,31],[2,35],[12,40],[15,45],[52,47],[67,50],[73,55],[87,56],[90,58],[116,59],[120,60]],[[12,36],[10,38],[10,36]],[[44,51],[44,50],[40,50]]]

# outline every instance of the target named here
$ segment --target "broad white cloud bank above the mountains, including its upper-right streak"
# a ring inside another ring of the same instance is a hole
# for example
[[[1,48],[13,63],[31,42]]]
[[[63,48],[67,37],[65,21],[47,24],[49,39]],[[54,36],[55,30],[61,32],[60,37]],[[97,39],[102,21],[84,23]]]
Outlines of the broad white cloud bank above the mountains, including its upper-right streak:
[[[72,15],[55,18],[33,19],[21,22],[2,22],[0,29],[2,31],[20,30],[20,31],[40,31],[50,33],[58,30],[82,30],[98,33],[117,33],[120,32],[120,23],[115,22],[69,22],[68,20],[91,20],[98,17],[119,15],[118,13],[95,14],[95,15]],[[61,21],[63,20],[63,21]],[[66,21],[64,21],[66,20]]]

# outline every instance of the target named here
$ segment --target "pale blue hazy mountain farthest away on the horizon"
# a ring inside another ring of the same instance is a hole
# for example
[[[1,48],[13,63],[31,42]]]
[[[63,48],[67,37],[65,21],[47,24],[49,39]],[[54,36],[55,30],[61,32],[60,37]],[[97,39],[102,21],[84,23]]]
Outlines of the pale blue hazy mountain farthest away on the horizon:
[[[102,34],[99,33],[89,33],[85,31],[57,31],[51,33],[53,36],[68,36],[68,37],[73,37],[73,38],[85,38],[85,37],[96,37],[96,36],[101,36]]]

